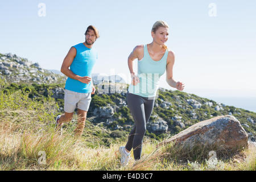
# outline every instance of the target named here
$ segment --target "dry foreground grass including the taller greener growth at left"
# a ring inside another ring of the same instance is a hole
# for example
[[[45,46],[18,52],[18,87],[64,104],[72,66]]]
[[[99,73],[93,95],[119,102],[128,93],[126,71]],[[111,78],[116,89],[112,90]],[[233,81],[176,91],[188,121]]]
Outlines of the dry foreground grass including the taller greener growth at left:
[[[15,96],[15,94],[18,94]],[[99,126],[87,121],[82,137],[75,138],[75,123],[65,124],[63,135],[54,131],[55,103],[30,101],[27,94],[0,92],[0,170],[251,170],[255,171],[256,147],[241,151],[218,151],[194,147],[185,151],[174,143],[157,147],[156,140],[144,138],[142,158],[126,167],[119,164],[119,146],[105,146],[94,135]],[[77,119],[77,118],[75,118]],[[88,118],[89,119],[89,118]],[[209,151],[217,153],[217,164],[208,160]],[[45,154],[46,163],[43,156]],[[189,161],[189,162],[188,162]]]

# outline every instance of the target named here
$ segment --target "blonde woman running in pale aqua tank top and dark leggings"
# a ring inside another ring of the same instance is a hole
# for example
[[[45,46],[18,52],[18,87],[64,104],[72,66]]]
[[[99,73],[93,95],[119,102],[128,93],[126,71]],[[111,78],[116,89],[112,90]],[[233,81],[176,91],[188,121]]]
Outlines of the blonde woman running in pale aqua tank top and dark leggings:
[[[168,85],[183,90],[183,82],[174,81],[172,68],[174,52],[169,51],[164,43],[168,40],[168,24],[162,20],[155,22],[150,44],[136,46],[128,57],[132,82],[127,93],[127,105],[134,118],[134,128],[131,130],[126,146],[119,147],[121,165],[126,166],[130,160],[133,148],[134,159],[141,159],[142,140],[146,133],[146,122],[152,113],[155,96],[159,87],[159,78],[166,71]],[[138,59],[138,75],[133,70],[133,60]]]

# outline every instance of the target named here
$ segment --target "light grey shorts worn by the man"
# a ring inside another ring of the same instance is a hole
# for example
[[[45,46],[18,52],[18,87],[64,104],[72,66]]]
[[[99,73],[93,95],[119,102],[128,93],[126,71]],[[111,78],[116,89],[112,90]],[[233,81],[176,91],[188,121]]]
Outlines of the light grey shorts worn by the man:
[[[65,89],[64,111],[66,113],[73,113],[76,107],[77,109],[88,111],[91,100],[91,93],[79,93]]]

